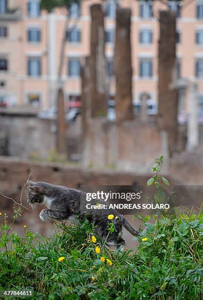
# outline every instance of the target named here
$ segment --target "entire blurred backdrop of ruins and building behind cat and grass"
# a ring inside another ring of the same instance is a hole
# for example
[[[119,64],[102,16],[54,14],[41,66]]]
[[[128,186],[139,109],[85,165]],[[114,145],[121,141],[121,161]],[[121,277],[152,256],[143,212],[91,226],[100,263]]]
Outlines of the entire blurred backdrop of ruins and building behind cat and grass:
[[[202,145],[202,0],[0,0],[3,195],[21,202],[30,166],[70,188],[142,185],[160,155],[172,184],[201,185]],[[1,218],[12,206],[0,196]]]

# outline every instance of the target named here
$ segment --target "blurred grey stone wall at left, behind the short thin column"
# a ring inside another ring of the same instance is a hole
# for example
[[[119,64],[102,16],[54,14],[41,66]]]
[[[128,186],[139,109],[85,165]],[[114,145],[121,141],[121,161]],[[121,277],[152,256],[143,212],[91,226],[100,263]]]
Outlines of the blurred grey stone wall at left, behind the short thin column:
[[[46,159],[56,148],[56,120],[32,113],[0,111],[0,154]],[[81,156],[81,118],[68,124],[66,151],[69,159]]]

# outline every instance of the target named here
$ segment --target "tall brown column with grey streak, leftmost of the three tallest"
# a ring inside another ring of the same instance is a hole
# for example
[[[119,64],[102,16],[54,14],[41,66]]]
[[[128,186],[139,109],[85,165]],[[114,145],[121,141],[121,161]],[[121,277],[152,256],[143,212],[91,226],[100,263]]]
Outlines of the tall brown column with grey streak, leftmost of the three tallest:
[[[93,4],[90,13],[91,117],[100,117],[107,113],[104,12],[100,4]]]

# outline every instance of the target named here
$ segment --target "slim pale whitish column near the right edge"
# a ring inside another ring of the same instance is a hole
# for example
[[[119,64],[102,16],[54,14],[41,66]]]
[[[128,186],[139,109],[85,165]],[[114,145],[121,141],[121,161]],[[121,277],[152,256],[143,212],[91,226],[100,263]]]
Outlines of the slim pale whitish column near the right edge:
[[[198,124],[198,93],[197,84],[189,84],[189,110],[187,120],[187,149],[193,150],[199,145],[199,124]]]

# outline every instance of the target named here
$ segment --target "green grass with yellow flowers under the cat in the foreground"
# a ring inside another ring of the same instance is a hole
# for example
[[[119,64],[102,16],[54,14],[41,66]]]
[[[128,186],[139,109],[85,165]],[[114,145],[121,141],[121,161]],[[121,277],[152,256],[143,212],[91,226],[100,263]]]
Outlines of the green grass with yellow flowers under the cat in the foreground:
[[[19,214],[15,212],[14,220]],[[88,221],[55,225],[50,237],[28,228],[20,237],[3,223],[0,288],[29,288],[34,293],[29,299],[39,300],[203,299],[203,214],[135,218],[146,229],[137,251],[122,253],[103,247]],[[103,249],[99,254],[96,246]],[[101,262],[101,256],[112,265]],[[59,262],[59,257],[65,259]]]

